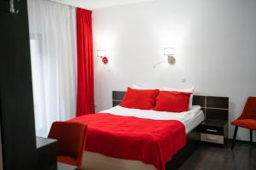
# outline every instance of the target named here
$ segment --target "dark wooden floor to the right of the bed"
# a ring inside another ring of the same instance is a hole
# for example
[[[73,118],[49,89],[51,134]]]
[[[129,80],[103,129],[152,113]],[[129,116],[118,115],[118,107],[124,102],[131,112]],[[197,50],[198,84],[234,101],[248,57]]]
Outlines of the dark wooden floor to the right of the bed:
[[[256,170],[256,145],[236,143],[225,146],[201,144],[179,170]]]

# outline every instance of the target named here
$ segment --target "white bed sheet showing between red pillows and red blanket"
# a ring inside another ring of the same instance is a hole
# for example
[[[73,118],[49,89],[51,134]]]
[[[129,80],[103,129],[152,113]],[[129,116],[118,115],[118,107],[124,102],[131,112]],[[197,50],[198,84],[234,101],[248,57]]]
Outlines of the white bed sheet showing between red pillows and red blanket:
[[[110,113],[119,116],[136,116],[139,118],[153,120],[177,120],[179,122],[183,122],[183,125],[186,128],[186,133],[189,133],[205,119],[205,116],[201,111],[200,105],[193,105],[190,111],[184,111],[179,113],[167,111],[129,109],[117,105],[108,110],[101,111],[100,113]]]

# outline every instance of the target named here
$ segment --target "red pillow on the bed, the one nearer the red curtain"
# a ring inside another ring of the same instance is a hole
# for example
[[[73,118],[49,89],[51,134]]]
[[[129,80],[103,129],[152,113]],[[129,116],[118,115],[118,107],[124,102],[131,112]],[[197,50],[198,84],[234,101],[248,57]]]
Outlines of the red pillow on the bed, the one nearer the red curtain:
[[[158,89],[133,89],[127,88],[122,107],[149,110],[154,107],[154,99],[158,95]]]

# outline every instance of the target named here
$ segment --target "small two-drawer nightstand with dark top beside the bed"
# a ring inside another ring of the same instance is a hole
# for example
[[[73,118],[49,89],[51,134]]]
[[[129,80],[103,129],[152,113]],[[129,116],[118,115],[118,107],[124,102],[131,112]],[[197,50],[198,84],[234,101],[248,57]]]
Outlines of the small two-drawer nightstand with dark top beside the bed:
[[[200,125],[201,141],[224,144],[228,137],[228,122],[207,119]]]

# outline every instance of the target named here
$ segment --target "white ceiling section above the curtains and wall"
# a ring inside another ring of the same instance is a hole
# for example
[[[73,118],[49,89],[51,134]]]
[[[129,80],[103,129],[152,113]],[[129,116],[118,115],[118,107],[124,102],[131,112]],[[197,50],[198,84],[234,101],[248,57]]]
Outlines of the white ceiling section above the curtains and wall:
[[[112,6],[125,5],[130,3],[141,3],[144,1],[152,0],[50,0],[58,3],[65,3],[75,7],[86,8],[86,9],[96,9],[96,8],[106,8]]]

